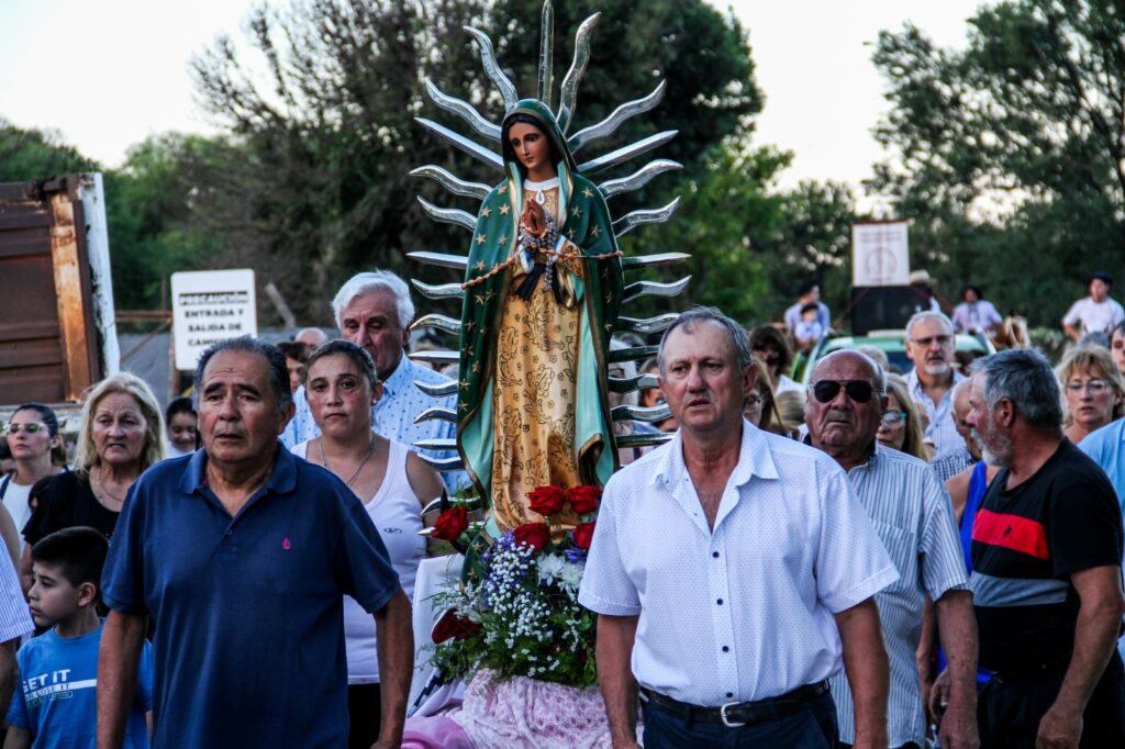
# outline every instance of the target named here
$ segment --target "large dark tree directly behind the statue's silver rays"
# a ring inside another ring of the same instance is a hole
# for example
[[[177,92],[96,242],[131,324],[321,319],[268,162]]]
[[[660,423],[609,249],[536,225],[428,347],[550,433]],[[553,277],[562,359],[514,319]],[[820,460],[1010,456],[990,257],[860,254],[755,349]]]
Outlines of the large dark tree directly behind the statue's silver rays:
[[[654,117],[675,119],[682,141],[660,155],[680,157],[692,173],[709,146],[745,128],[760,107],[745,34],[731,17],[698,0],[640,9],[623,0],[596,4],[603,17],[579,92],[580,123],[647,94],[667,74],[668,103]],[[557,71],[565,71],[579,15],[594,6],[556,9]],[[287,11],[253,11],[251,44],[264,76],[226,37],[192,62],[204,108],[245,154],[223,175],[241,198],[218,206],[200,201],[199,220],[230,236],[262,280],[273,280],[298,315],[317,322],[328,322],[325,300],[358,269],[379,265],[415,276],[420,269],[406,264],[405,252],[462,252],[467,235],[431,223],[414,196],[470,213],[476,205],[408,172],[435,163],[467,179],[494,182],[498,175],[413,121],[422,114],[450,119],[423,98],[423,80],[498,120],[497,96],[461,26],[489,31],[502,66],[533,96],[540,8],[538,0],[303,0]],[[638,118],[620,137],[647,135],[652,127]],[[634,204],[650,198],[637,196]],[[619,200],[619,213],[634,205]],[[425,274],[434,280],[438,273]]]

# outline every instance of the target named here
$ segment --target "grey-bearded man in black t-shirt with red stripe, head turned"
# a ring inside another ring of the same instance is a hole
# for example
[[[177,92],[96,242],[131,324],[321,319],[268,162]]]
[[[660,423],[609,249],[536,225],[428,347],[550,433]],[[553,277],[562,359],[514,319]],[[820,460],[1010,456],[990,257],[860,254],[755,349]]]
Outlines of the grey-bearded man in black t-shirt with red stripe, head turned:
[[[1059,385],[1029,350],[983,360],[968,422],[1000,466],[973,522],[984,747],[1125,747],[1122,514],[1062,434]]]

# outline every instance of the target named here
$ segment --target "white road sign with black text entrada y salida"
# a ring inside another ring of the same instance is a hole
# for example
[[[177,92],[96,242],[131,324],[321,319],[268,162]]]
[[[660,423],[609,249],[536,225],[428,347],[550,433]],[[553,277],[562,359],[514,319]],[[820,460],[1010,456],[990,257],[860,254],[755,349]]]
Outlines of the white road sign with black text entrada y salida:
[[[172,273],[172,335],[179,370],[195,369],[213,343],[258,335],[254,271]]]

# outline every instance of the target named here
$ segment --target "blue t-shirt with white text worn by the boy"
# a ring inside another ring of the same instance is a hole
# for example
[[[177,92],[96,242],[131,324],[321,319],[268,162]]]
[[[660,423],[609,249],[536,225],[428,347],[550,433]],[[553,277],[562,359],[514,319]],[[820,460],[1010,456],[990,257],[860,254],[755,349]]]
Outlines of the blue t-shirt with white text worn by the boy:
[[[32,732],[33,749],[92,749],[98,716],[98,628],[80,638],[54,630],[19,649],[20,688],[12,694],[7,721]],[[152,710],[152,646],[144,643],[126,749],[148,746],[145,713]]]

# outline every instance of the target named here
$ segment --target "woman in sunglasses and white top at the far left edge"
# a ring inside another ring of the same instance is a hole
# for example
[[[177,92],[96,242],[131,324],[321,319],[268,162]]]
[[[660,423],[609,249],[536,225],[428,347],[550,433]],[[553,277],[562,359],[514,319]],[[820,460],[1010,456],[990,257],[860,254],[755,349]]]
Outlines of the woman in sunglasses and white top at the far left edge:
[[[63,437],[58,434],[58,417],[50,406],[40,403],[25,403],[18,407],[8,422],[7,432],[8,449],[16,460],[16,472],[0,479],[0,498],[15,529],[10,542],[7,532],[3,533],[4,542],[9,547],[15,544],[18,559],[24,543],[18,532],[24,530],[32,517],[32,487],[39,479],[61,472],[66,464],[66,452]],[[0,525],[2,524],[3,518],[0,517]],[[0,531],[4,529],[0,527]]]

